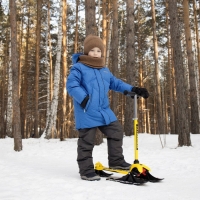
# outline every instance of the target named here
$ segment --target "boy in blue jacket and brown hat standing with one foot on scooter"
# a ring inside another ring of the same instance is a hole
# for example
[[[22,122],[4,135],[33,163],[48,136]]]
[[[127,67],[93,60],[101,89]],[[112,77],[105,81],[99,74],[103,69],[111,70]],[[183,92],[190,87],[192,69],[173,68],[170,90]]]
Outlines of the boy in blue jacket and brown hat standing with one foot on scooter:
[[[84,54],[74,54],[73,66],[67,79],[67,90],[74,100],[76,129],[79,131],[79,173],[83,180],[100,180],[95,173],[92,151],[96,129],[107,136],[108,164],[110,168],[129,169],[124,160],[122,140],[123,128],[110,109],[108,92],[125,90],[148,98],[145,88],[133,87],[117,79],[104,66],[104,45],[101,38],[89,35],[84,40]]]

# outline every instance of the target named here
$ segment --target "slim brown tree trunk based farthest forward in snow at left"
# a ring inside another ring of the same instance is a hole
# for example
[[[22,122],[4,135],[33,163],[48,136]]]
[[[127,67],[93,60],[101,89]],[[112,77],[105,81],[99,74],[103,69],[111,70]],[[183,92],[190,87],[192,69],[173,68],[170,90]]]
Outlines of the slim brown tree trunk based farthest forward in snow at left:
[[[20,126],[20,102],[19,102],[19,69],[17,55],[17,20],[16,2],[10,0],[10,25],[11,25],[11,66],[12,66],[12,105],[13,105],[13,136],[14,150],[22,150],[22,137]]]

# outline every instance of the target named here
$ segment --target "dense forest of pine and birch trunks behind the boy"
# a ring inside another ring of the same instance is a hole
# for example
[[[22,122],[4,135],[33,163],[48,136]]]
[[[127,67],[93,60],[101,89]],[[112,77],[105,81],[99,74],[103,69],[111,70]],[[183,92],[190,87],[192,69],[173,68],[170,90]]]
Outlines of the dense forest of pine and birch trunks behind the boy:
[[[191,146],[190,133],[200,133],[199,21],[197,0],[0,0],[0,138],[21,151],[22,139],[78,137],[66,79],[94,34],[106,67],[149,91],[138,99],[139,133],[177,134]],[[133,135],[133,99],[109,99]],[[96,144],[102,138],[98,130]]]

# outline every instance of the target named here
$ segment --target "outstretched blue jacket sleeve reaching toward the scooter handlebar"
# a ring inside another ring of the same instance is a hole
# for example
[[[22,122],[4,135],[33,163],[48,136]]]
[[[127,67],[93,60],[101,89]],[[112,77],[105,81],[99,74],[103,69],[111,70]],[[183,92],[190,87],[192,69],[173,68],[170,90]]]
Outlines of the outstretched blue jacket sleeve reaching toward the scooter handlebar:
[[[110,72],[110,89],[114,90],[116,92],[124,93],[125,90],[131,91],[133,86],[125,83],[121,79],[116,78],[111,72]]]

